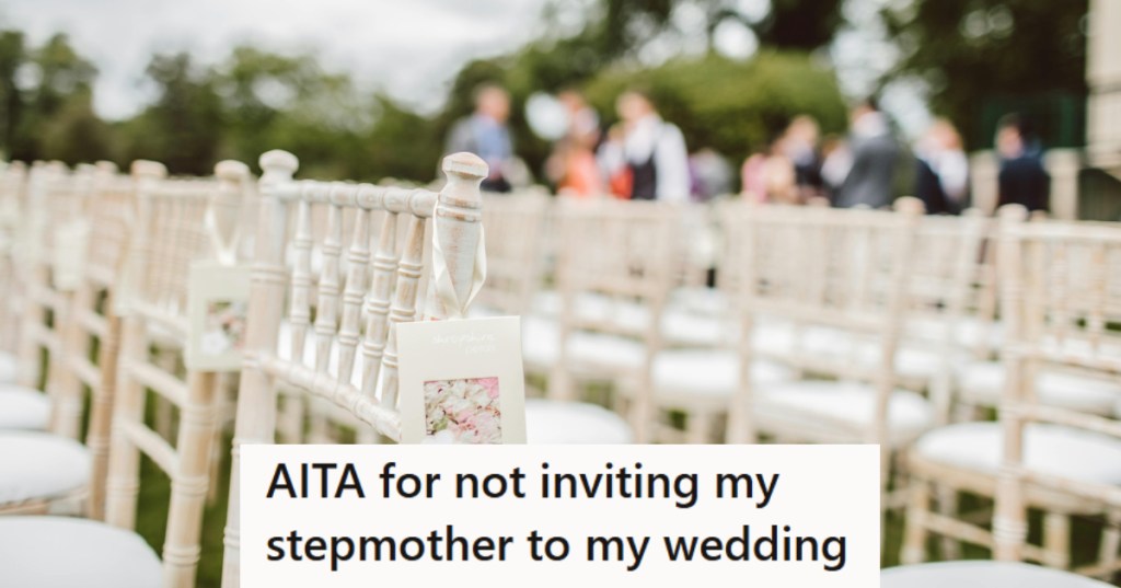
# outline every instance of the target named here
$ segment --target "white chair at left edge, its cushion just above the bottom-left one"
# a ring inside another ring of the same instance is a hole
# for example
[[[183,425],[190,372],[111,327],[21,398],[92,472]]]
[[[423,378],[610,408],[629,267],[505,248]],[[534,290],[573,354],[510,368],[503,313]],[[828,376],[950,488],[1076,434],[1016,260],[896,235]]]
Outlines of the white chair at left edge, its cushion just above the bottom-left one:
[[[127,247],[136,182],[145,174],[158,178],[161,171],[159,164],[137,162],[130,178],[117,175],[112,164],[101,164],[81,202],[90,235],[49,374],[48,387],[54,391],[49,432],[0,431],[0,513],[41,513],[54,504],[84,498],[90,516],[103,516],[120,343],[112,293]],[[78,442],[83,430],[84,445]]]

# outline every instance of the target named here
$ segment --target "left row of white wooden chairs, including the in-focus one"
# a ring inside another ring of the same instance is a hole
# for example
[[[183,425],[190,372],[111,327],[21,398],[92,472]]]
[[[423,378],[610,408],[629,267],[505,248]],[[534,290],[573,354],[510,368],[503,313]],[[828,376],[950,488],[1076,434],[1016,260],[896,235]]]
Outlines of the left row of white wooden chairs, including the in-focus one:
[[[437,193],[296,182],[297,160],[284,151],[260,163],[259,181],[234,162],[213,178],[166,178],[148,162],[130,176],[109,166],[3,171],[0,199],[19,211],[3,226],[4,330],[19,333],[8,358],[18,374],[6,375],[18,383],[0,394],[0,511],[20,516],[0,518],[0,584],[195,585],[203,508],[230,449],[219,449],[221,401],[235,374],[184,362],[198,327],[187,313],[194,263],[253,277],[245,367],[229,402],[238,413],[225,585],[238,584],[237,447],[274,441],[278,388],[328,398],[370,437],[399,435],[395,325],[444,315],[421,290],[433,226],[453,285],[472,274],[485,164],[450,156]],[[313,210],[326,214],[323,232]],[[163,557],[132,532],[141,456],[170,478]],[[59,513],[89,518],[41,516]]]

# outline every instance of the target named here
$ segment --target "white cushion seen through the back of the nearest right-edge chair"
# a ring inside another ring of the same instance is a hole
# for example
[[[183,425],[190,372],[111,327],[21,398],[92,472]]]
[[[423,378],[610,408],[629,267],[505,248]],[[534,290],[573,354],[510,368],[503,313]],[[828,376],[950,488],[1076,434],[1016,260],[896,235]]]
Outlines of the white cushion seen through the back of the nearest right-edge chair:
[[[998,361],[974,361],[957,375],[963,399],[982,406],[997,406],[1004,389],[1004,366]],[[1121,401],[1121,384],[1103,379],[1043,371],[1036,386],[1040,404],[1073,411],[1110,414]]]

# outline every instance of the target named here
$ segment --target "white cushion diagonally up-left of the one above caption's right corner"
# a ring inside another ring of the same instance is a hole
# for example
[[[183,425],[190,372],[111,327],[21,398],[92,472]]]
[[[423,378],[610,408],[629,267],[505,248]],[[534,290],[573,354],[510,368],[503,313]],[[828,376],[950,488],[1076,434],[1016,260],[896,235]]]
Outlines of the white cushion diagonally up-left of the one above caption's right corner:
[[[730,350],[669,350],[654,358],[654,387],[659,398],[687,402],[697,396],[726,402],[740,386],[740,358]],[[789,380],[794,373],[778,364],[759,360],[751,366],[756,384]]]

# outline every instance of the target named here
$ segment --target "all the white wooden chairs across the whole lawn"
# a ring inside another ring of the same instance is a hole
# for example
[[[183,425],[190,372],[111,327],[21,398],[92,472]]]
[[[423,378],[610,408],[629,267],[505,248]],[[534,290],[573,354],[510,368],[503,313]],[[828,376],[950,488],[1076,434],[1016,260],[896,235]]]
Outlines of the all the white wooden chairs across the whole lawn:
[[[527,402],[530,442],[879,443],[883,504],[907,505],[905,561],[926,555],[933,531],[1067,568],[1069,517],[1101,515],[1099,558],[1081,571],[1115,569],[1113,227],[1027,222],[1022,209],[927,218],[910,199],[895,212],[481,199],[485,166],[465,155],[445,160],[438,193],[295,181],[296,166],[272,151],[257,182],[233,162],[207,180],[150,163],[131,176],[49,164],[0,175],[0,211],[19,211],[0,217],[0,274],[4,331],[19,333],[8,377],[22,384],[0,394],[0,445],[12,448],[0,480],[16,481],[0,483],[0,509],[77,508],[113,525],[0,521],[0,538],[21,538],[0,545],[27,553],[19,569],[47,562],[38,548],[67,549],[65,535],[102,545],[83,563],[103,572],[142,557],[126,578],[193,585],[232,420],[234,586],[239,444],[399,435],[393,325],[446,315],[428,282],[433,226],[458,288],[487,229],[472,313],[522,315],[526,368],[544,388]],[[183,365],[200,259],[253,275],[239,382]],[[999,421],[979,419],[998,405]],[[35,443],[70,461],[48,466]],[[173,479],[161,563],[113,531],[135,524],[140,452]],[[997,523],[966,524],[988,514],[962,513],[958,491],[995,498]],[[1043,548],[1027,545],[1028,507],[1050,513]]]

